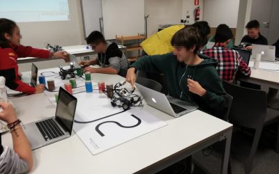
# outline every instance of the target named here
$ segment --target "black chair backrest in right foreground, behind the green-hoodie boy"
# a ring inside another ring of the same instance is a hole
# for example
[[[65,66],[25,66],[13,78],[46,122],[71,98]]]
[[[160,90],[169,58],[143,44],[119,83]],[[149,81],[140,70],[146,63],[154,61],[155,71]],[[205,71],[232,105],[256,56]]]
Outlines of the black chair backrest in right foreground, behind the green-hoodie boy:
[[[229,111],[229,122],[252,129],[263,126],[266,118],[266,93],[227,81],[223,81],[223,86],[227,93],[234,97]]]

